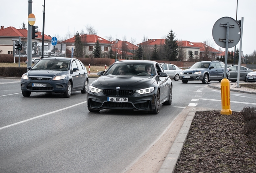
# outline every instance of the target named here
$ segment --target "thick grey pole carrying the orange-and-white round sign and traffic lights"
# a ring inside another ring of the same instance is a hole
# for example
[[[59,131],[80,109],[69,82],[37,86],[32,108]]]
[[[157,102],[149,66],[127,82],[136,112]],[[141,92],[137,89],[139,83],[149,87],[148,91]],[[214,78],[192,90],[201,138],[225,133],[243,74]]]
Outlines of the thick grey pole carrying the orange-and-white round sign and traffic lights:
[[[32,13],[32,0],[28,1],[28,15]],[[27,21],[27,67],[32,66],[32,26]]]

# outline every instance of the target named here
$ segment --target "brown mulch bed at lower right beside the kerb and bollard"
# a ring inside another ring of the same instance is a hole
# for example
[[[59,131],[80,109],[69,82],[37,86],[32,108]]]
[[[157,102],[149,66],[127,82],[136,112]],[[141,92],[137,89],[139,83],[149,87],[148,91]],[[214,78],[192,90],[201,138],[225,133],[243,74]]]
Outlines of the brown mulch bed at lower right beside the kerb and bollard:
[[[240,112],[198,111],[174,173],[255,173],[256,139]]]

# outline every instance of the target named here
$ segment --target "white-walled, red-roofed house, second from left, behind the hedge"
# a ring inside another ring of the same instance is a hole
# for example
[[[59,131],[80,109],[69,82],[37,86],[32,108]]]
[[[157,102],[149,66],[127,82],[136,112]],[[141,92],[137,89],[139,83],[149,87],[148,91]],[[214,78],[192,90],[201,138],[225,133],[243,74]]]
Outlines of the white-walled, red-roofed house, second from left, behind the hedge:
[[[96,46],[97,40],[99,41],[99,45],[101,46],[101,50],[103,51],[103,57],[107,58],[109,57],[109,50],[111,45],[114,45],[114,43],[97,36],[95,34],[81,34],[79,35],[81,37],[81,42],[83,43],[83,56],[84,57],[92,57],[93,56],[93,50]],[[75,51],[75,36],[72,38],[69,38],[67,40],[62,41],[62,43],[66,44],[67,52],[71,52],[72,48]],[[71,57],[70,55],[66,55],[66,57]]]

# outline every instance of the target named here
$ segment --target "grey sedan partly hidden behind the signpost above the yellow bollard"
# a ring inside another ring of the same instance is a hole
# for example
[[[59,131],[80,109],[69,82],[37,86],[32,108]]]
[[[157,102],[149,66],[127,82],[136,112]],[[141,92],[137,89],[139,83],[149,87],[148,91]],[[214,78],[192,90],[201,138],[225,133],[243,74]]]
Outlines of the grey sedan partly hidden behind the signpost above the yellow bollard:
[[[235,64],[227,64],[227,68],[229,68],[230,77],[228,78],[231,82],[237,81],[237,74],[238,74],[238,65]],[[239,80],[244,80],[247,82],[247,74],[253,72],[253,70],[246,68],[244,66],[240,66],[240,78]]]

